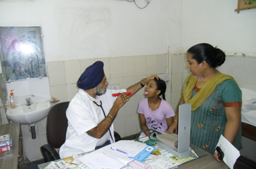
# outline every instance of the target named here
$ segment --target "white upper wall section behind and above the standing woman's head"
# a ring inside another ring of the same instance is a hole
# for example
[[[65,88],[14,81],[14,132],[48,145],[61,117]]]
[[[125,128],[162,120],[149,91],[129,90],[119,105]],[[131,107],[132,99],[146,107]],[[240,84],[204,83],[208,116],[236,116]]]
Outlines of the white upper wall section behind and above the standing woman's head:
[[[236,13],[237,0],[183,1],[183,48],[206,42],[227,55],[256,56],[256,9]],[[172,37],[174,38],[174,37]]]

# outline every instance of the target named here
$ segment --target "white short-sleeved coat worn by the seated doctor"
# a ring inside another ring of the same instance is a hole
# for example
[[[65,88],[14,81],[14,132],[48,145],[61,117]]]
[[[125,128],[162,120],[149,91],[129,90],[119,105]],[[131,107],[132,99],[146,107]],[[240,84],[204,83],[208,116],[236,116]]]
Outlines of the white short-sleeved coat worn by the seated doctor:
[[[108,115],[110,109],[115,103],[117,97],[113,97],[113,93],[123,93],[125,89],[121,90],[106,90],[106,93],[96,99],[101,99],[102,107],[105,115]],[[92,137],[86,133],[90,129],[96,127],[101,121],[96,114],[93,98],[90,97],[83,89],[79,89],[78,93],[73,97],[67,108],[66,115],[68,119],[66,141],[59,150],[61,158],[82,154],[84,152],[93,151],[98,142],[98,138]],[[100,110],[102,111],[102,110]],[[106,131],[107,133],[108,131]],[[115,142],[114,126],[110,126],[110,132]],[[110,140],[111,144],[113,140]],[[105,141],[104,141],[105,142]]]

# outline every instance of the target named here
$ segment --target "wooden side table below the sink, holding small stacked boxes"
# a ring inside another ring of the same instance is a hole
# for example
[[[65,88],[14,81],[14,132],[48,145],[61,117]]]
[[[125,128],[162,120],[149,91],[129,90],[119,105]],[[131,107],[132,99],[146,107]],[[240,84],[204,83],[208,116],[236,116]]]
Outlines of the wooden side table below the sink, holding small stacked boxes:
[[[0,169],[22,168],[24,164],[20,123],[0,125],[0,135],[10,134],[12,150],[0,153]]]

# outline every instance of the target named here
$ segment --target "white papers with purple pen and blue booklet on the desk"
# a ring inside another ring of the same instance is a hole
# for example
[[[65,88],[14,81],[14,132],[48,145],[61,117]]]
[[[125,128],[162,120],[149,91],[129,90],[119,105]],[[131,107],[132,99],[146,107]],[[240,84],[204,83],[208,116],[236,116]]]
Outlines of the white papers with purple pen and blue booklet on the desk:
[[[120,151],[115,151],[115,148]],[[83,162],[89,168],[111,168],[119,169],[126,166],[134,158],[143,161],[153,152],[155,148],[135,142],[133,140],[120,140],[114,144],[100,148],[82,158],[79,161]]]

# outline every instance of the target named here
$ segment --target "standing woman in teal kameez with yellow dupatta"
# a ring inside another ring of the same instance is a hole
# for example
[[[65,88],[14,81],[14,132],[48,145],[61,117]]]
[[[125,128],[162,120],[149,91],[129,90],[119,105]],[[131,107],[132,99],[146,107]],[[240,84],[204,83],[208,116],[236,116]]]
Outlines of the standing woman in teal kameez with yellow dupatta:
[[[210,44],[197,44],[187,51],[191,74],[183,85],[179,105],[191,103],[191,144],[214,154],[220,135],[241,149],[242,93],[238,84],[216,69],[225,62],[222,50]],[[178,113],[170,126],[177,133]],[[218,160],[220,162],[220,160]]]

